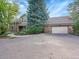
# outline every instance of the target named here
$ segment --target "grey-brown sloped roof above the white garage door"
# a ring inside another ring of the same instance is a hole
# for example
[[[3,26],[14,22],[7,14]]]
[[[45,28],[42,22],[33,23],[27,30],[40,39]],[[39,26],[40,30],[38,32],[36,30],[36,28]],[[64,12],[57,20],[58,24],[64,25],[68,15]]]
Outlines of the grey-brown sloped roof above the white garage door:
[[[47,25],[72,25],[73,20],[69,16],[51,17],[47,21]]]

